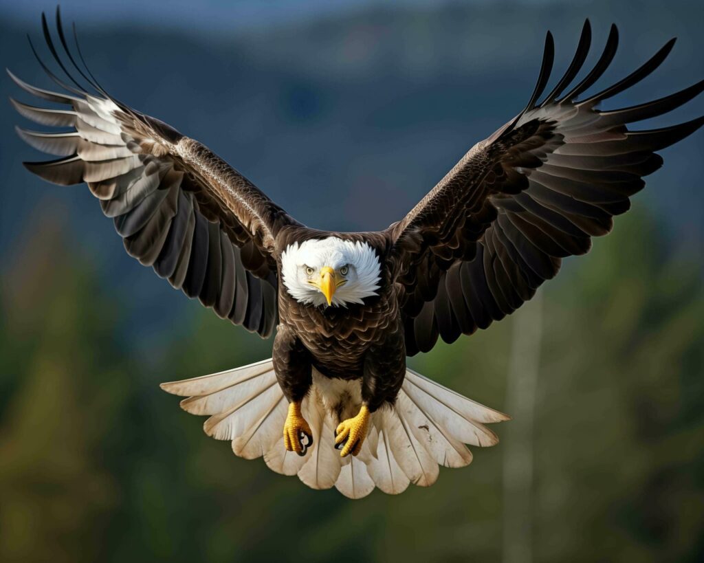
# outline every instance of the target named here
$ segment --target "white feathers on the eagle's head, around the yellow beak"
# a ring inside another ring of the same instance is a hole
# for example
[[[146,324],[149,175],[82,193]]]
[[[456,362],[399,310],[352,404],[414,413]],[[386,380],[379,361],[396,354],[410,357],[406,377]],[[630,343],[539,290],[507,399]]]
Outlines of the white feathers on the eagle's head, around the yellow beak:
[[[281,257],[281,273],[289,295],[299,303],[326,305],[325,295],[316,284],[326,267],[332,269],[337,280],[331,305],[346,307],[378,295],[381,265],[374,248],[337,236],[287,246]]]

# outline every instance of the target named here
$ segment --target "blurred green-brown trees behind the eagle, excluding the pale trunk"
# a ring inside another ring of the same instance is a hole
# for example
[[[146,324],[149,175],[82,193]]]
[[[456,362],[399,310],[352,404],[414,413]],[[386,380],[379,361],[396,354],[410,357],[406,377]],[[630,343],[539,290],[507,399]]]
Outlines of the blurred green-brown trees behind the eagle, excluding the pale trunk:
[[[270,343],[190,308],[186,331],[134,355],[120,303],[59,233],[44,224],[3,284],[0,560],[501,557],[510,440],[473,448],[432,488],[356,502],[240,460],[158,383],[266,358]],[[536,561],[694,561],[704,548],[700,264],[658,241],[631,213],[546,286],[524,515]],[[411,364],[501,410],[510,329]]]

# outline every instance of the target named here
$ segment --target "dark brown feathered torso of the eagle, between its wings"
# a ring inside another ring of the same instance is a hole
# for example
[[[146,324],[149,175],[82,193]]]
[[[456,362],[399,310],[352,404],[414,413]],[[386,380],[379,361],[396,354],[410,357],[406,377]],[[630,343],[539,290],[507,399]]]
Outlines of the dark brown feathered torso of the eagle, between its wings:
[[[308,393],[308,387],[301,385],[299,377],[289,377],[287,366],[292,362],[307,364],[304,369],[307,381],[310,381],[310,367],[328,377],[363,379],[363,398],[373,411],[384,402],[394,402],[395,391],[406,373],[403,323],[393,283],[393,261],[389,257],[391,237],[388,233],[332,233],[292,227],[279,235],[276,255],[280,259],[280,254],[292,241],[328,236],[363,240],[375,249],[385,265],[379,295],[365,299],[363,305],[319,308],[298,303],[286,291],[279,291],[279,330],[273,353],[275,365],[280,366],[277,369],[279,383],[289,400],[301,400]],[[300,343],[300,355],[290,355],[287,362],[279,360],[279,342],[282,341],[286,342],[281,344],[284,349]],[[293,371],[298,374],[298,365]]]

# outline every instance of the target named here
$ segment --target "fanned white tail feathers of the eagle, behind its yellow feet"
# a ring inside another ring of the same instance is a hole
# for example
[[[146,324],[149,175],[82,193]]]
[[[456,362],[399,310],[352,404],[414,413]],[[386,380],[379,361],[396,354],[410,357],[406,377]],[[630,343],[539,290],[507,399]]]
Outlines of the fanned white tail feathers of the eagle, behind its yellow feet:
[[[359,410],[359,381],[328,379],[313,372],[313,388],[301,412],[313,431],[313,446],[300,457],[284,448],[282,432],[288,403],[276,379],[272,360],[226,372],[161,384],[168,393],[187,396],[181,406],[194,415],[210,415],[208,436],[232,441],[232,450],[248,460],[264,457],[268,467],[298,475],[311,488],[336,487],[349,498],[362,498],[375,487],[398,494],[409,483],[430,486],[439,465],[464,467],[472,462],[465,444],[494,445],[488,422],[510,417],[480,405],[408,369],[396,404],[379,409],[357,457],[341,458],[334,449],[339,424],[330,405],[342,393],[350,398],[347,413]]]

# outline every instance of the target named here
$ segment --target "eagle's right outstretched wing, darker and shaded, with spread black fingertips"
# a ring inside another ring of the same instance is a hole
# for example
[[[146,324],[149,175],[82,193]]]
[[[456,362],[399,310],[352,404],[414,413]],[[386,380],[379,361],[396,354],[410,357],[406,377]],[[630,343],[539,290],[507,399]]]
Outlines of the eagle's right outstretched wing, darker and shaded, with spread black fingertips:
[[[408,215],[389,227],[406,323],[408,355],[430,350],[441,336],[486,328],[532,298],[558,272],[562,258],[584,254],[591,236],[610,232],[629,208],[641,179],[662,165],[654,153],[683,139],[704,118],[649,131],[627,124],[662,115],[704,89],[704,81],[662,99],[620,110],[598,104],[658,68],[674,39],[638,70],[577,101],[616,52],[611,27],[594,68],[572,87],[591,44],[584,24],[567,72],[536,103],[553,64],[548,32],[538,83],[517,117],[479,142]]]

